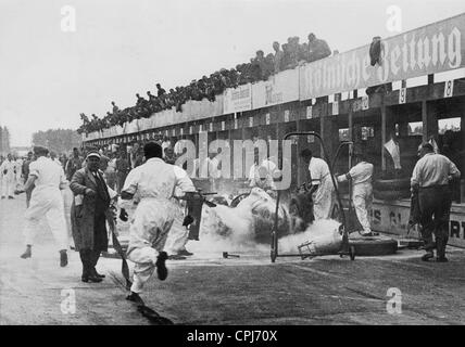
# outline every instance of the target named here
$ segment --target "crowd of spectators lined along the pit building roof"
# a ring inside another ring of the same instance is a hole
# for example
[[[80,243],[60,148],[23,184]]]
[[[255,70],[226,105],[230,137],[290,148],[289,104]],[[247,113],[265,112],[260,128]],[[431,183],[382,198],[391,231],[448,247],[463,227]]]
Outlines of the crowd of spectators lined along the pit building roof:
[[[100,131],[112,126],[123,126],[126,121],[134,119],[149,118],[152,114],[163,110],[176,108],[181,112],[181,105],[189,100],[215,101],[216,95],[222,94],[226,88],[237,88],[240,85],[267,80],[271,75],[285,69],[296,68],[297,66],[314,62],[331,55],[326,41],[317,39],[314,34],[310,34],[309,41],[299,43],[299,37],[289,37],[287,43],[280,44],[273,42],[274,53],[265,56],[262,50],[256,51],[255,57],[250,63],[238,64],[235,68],[222,68],[210,77],[203,76],[198,80],[192,80],[186,87],[176,87],[166,92],[160,83],[156,83],[156,95],[147,91],[143,98],[136,94],[136,105],[120,110],[112,101],[112,112],[108,112],[103,118],[95,114],[89,119],[85,114],[80,114],[83,125],[78,132],[90,133]]]

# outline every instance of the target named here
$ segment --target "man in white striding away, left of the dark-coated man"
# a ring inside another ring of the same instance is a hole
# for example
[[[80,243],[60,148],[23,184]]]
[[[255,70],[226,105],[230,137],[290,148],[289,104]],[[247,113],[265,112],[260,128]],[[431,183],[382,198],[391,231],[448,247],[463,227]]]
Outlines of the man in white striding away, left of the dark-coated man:
[[[63,197],[60,192],[61,185],[65,182],[64,171],[61,166],[58,166],[47,157],[48,150],[46,147],[35,146],[34,154],[37,160],[29,165],[29,178],[24,189],[17,191],[17,193],[22,193],[33,184],[36,187],[25,214],[24,237],[26,250],[21,257],[23,259],[32,257],[38,221],[45,216],[60,250],[60,266],[65,267],[67,265],[66,249],[68,242]]]

